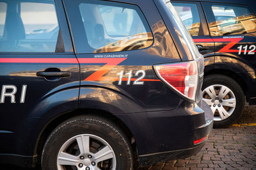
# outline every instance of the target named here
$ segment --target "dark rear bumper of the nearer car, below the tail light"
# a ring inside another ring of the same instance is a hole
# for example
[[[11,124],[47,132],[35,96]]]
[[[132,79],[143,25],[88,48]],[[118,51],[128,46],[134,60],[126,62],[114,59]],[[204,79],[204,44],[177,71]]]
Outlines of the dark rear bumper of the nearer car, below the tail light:
[[[202,109],[201,109],[202,108]],[[130,128],[140,166],[189,157],[204,146],[213,125],[210,107],[184,100],[173,111],[116,115]],[[204,109],[204,110],[203,110]],[[194,144],[195,140],[205,140]]]

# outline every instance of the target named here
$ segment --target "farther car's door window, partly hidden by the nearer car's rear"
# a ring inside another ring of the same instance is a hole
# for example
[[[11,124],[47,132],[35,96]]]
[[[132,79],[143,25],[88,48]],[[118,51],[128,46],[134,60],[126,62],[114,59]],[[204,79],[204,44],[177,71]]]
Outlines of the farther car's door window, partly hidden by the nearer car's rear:
[[[179,13],[180,19],[189,31],[191,36],[198,36],[200,28],[200,17],[196,4],[191,3],[172,3],[173,7]]]

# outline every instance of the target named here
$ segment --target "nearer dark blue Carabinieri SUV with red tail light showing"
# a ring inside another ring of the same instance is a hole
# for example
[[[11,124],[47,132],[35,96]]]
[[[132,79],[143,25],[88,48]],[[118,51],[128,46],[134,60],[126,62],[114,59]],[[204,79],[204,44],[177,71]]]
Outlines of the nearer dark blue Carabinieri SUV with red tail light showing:
[[[204,60],[170,1],[0,0],[0,162],[132,169],[197,153]]]

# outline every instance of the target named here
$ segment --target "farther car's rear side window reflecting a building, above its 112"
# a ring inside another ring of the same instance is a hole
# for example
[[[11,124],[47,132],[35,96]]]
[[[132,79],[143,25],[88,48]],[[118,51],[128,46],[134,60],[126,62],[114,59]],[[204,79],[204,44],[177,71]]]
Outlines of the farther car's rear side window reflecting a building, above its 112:
[[[211,10],[214,15],[214,17],[207,16],[211,36],[239,35],[256,31],[255,14],[247,6],[205,4],[205,8]]]

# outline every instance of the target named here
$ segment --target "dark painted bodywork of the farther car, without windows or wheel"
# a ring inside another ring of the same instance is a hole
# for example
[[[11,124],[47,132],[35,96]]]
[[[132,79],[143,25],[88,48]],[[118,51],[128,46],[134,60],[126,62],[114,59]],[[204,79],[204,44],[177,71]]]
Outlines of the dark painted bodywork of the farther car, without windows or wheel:
[[[198,36],[192,36],[196,45],[203,47],[198,49],[201,54],[204,55],[205,59],[205,76],[214,73],[220,73],[232,77],[236,82],[239,83],[241,88],[244,90],[246,95],[246,101],[250,105],[256,104],[256,76],[255,76],[255,58],[253,55],[241,55],[238,52],[230,52],[228,50],[221,50],[225,48],[228,43],[235,42],[235,45],[227,48],[231,50],[237,50],[239,45],[256,45],[256,33],[246,33],[228,36],[210,36],[209,27],[207,23],[207,15],[209,14],[209,9],[205,8],[207,3],[212,3],[211,0],[172,0],[173,3],[193,3],[196,4],[198,12],[201,19],[201,30]],[[241,1],[241,0],[214,0],[214,3],[223,4],[241,4],[246,5],[253,13],[256,13],[256,3],[253,1]],[[229,42],[225,41],[225,38],[233,39]],[[236,38],[241,38],[239,42]],[[198,42],[198,39],[202,42]],[[219,40],[218,40],[219,39]],[[222,40],[220,40],[222,39]]]

